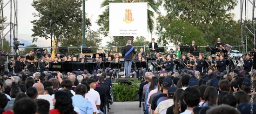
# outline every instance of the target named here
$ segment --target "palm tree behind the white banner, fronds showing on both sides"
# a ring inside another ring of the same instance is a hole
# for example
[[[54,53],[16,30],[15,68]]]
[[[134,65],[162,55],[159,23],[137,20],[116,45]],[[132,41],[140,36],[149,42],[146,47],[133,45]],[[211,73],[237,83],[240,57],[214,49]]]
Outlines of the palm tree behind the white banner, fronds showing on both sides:
[[[106,10],[99,15],[99,19],[97,20],[98,26],[100,26],[99,31],[101,31],[101,34],[108,36],[109,33],[109,0],[104,0],[101,4],[101,7],[107,7]],[[111,2],[115,3],[121,3],[121,2],[147,2],[148,3],[148,31],[150,33],[153,32],[155,28],[155,22],[154,22],[154,12],[159,11],[159,5],[155,2],[155,0],[113,0]],[[149,10],[152,9],[152,10]],[[127,36],[126,41],[131,40],[132,45],[134,43],[134,37],[133,36]]]

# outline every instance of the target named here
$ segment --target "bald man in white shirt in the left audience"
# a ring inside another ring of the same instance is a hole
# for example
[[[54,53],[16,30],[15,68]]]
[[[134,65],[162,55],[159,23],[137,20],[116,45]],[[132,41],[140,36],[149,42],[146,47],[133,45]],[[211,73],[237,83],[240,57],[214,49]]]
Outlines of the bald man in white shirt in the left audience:
[[[54,106],[53,106],[53,99],[54,99],[54,97],[49,95],[49,94],[44,94],[44,85],[41,84],[41,83],[35,83],[33,85],[33,87],[35,87],[36,90],[37,90],[37,93],[38,93],[37,99],[44,99],[44,100],[49,101],[49,103],[50,103],[50,110],[54,109]]]

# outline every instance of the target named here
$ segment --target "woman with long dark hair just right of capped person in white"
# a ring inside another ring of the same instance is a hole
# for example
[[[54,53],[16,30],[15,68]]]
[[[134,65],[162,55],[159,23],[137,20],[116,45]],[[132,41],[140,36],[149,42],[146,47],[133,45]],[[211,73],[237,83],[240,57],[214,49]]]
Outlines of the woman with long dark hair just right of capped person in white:
[[[180,99],[181,99],[183,91],[184,90],[182,88],[178,88],[175,91],[174,98],[173,98],[174,105],[171,107],[168,107],[166,114],[180,114],[181,113],[179,111],[179,108],[180,108]]]

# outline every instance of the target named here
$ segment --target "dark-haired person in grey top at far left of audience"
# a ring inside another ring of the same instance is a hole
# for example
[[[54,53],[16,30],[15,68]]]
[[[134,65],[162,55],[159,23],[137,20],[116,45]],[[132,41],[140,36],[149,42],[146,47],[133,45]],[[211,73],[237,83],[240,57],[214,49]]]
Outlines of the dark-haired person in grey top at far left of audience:
[[[13,109],[13,103],[15,101],[15,98],[16,98],[16,96],[18,96],[18,94],[20,94],[20,92],[21,92],[20,87],[18,87],[18,86],[12,87],[11,93],[10,93],[12,99],[11,99],[11,101],[8,101],[7,106],[5,107],[4,110],[12,110]]]

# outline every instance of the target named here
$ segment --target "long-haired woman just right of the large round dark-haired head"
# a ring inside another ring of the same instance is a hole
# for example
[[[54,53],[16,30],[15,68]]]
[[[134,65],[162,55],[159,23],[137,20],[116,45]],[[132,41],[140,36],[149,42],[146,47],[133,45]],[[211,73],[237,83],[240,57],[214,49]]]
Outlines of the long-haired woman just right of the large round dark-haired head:
[[[217,105],[217,97],[218,91],[216,90],[216,88],[207,87],[203,95],[204,102],[202,103],[202,107]]]

